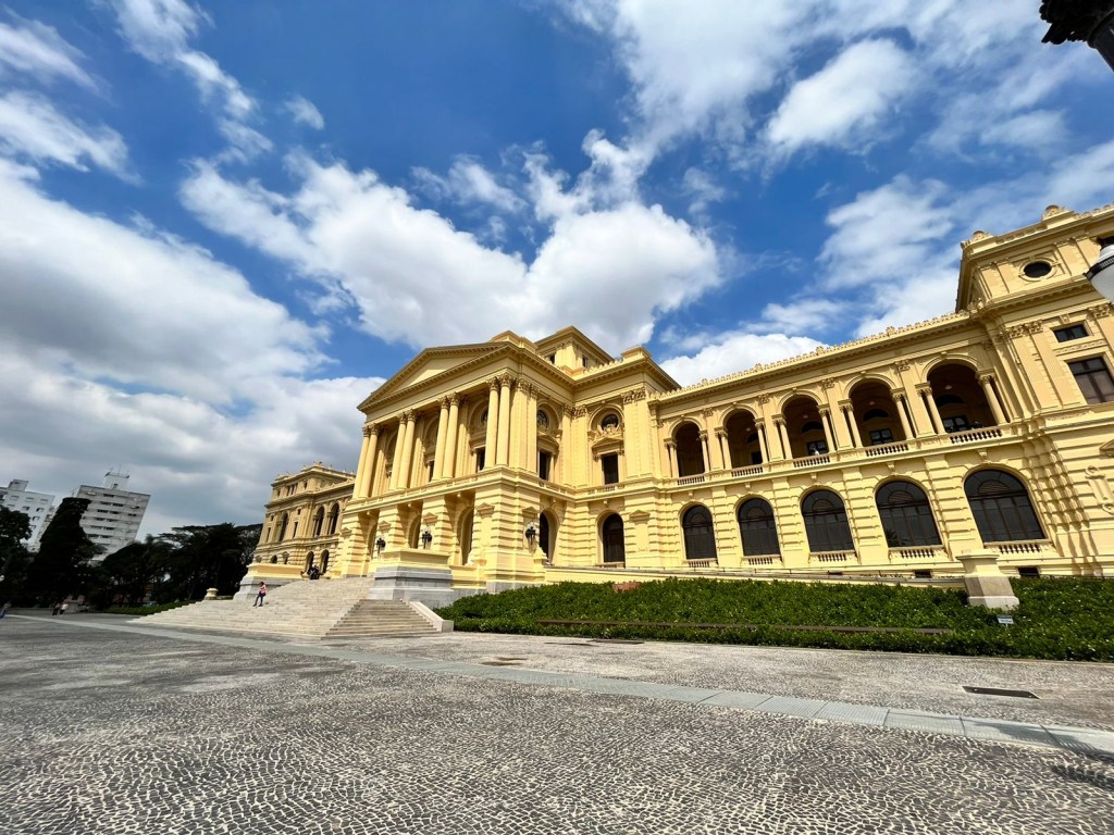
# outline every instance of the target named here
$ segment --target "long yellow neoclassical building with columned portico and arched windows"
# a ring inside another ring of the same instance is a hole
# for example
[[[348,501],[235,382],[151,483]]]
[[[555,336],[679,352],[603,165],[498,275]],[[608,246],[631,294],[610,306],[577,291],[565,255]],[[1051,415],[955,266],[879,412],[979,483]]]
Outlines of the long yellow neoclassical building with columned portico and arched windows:
[[[688,386],[574,327],[422,351],[359,405],[355,473],[274,482],[245,583],[1112,571],[1106,238],[1114,206],[976,232],[955,313]]]

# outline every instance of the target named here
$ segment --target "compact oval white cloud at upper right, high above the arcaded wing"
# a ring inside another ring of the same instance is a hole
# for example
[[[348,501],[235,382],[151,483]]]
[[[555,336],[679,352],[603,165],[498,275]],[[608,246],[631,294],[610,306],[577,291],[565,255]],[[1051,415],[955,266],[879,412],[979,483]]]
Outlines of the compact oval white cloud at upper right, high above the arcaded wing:
[[[770,120],[769,141],[780,154],[869,141],[869,131],[912,80],[912,61],[893,41],[854,43],[792,87]]]

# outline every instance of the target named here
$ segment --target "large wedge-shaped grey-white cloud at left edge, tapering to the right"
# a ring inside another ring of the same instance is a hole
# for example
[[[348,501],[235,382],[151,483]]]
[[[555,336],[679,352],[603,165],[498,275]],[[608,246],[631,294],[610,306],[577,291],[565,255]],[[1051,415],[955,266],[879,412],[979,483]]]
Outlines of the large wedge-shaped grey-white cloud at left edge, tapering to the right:
[[[48,199],[3,163],[0,228],[3,353],[214,403],[324,358],[323,334],[208,253]]]

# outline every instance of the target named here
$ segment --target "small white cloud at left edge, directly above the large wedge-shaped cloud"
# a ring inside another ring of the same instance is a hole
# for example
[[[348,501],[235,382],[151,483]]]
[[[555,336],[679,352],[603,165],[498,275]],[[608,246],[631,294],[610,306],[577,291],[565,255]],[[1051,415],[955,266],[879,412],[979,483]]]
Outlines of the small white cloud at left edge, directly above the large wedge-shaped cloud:
[[[81,125],[62,116],[46,98],[29,92],[0,96],[0,151],[36,163],[88,165],[129,179],[128,148],[111,128]]]

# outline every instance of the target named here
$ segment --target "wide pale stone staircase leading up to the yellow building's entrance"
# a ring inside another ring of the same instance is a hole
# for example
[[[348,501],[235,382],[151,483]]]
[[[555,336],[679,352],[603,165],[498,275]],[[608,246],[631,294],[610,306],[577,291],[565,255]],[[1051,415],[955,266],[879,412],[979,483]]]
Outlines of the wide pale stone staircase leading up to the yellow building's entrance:
[[[434,635],[440,630],[398,600],[368,600],[369,577],[302,580],[251,600],[203,600],[137,618],[134,623],[168,629],[207,629],[282,638],[340,639]]]

